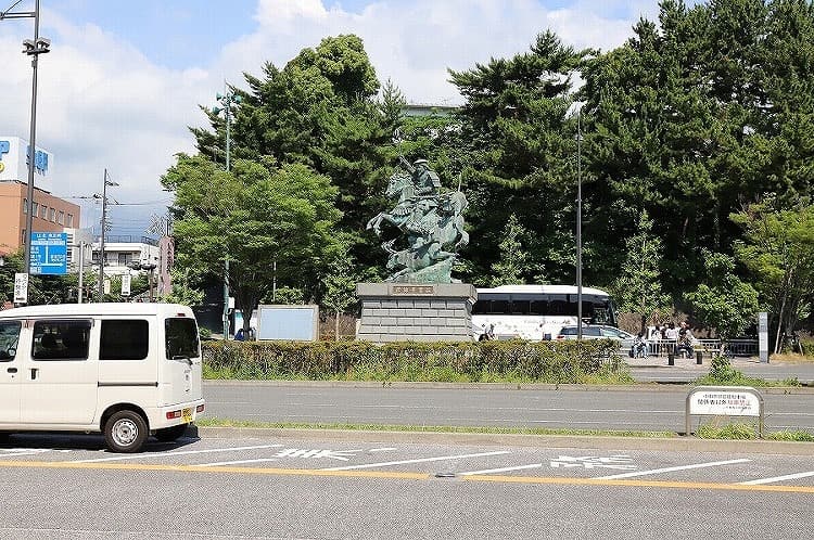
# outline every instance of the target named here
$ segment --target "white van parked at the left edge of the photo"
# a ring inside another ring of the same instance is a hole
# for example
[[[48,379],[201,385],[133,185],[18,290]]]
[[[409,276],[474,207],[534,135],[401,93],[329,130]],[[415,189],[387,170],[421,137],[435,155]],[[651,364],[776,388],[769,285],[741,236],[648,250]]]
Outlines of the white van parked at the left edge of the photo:
[[[180,437],[204,410],[192,310],[62,304],[0,311],[0,436],[103,433],[115,452]]]

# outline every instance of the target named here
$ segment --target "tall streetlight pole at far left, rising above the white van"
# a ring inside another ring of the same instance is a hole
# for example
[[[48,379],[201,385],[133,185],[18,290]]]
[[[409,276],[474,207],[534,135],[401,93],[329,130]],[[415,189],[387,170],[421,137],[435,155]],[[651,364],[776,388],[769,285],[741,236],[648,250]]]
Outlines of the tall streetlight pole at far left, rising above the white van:
[[[37,155],[37,65],[39,63],[39,55],[50,52],[51,41],[46,38],[39,37],[39,0],[36,0],[34,4],[34,11],[18,11],[12,12],[20,3],[20,0],[14,2],[5,11],[0,11],[0,21],[5,18],[34,18],[34,39],[26,39],[23,41],[23,54],[31,56],[31,118],[30,118],[30,130],[28,133],[28,187],[26,203],[26,221],[25,221],[25,271],[30,274],[31,272],[31,227],[34,224],[34,215],[31,210],[34,208],[34,171],[36,169],[36,155]]]

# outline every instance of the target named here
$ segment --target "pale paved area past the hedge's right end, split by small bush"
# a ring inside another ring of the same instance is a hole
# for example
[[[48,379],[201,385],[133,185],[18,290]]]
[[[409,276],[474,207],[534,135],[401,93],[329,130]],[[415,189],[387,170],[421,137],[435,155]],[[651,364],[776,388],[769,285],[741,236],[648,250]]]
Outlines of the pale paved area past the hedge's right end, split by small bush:
[[[631,374],[640,383],[689,383],[710,372],[712,359],[703,358],[696,363],[695,358],[676,358],[675,365],[667,365],[666,357],[625,358]],[[814,362],[772,362],[761,363],[758,358],[734,358],[733,368],[750,377],[766,381],[797,378],[803,385],[814,386]]]

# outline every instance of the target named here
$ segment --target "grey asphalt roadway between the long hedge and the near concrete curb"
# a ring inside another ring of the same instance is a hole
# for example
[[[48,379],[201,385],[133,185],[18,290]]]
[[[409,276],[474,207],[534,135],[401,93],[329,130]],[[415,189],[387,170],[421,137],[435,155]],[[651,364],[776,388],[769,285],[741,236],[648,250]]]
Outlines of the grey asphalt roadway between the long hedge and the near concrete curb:
[[[206,415],[255,422],[685,430],[686,387],[520,388],[208,381],[204,393]],[[761,393],[770,430],[814,433],[814,388]]]

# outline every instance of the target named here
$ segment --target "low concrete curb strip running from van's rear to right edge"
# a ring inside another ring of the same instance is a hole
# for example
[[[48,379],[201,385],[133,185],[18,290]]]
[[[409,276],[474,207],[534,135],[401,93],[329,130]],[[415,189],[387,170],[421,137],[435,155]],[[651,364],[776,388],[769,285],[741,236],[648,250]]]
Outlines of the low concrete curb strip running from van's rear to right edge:
[[[637,438],[576,435],[518,435],[441,432],[376,432],[190,426],[190,437],[212,439],[291,439],[342,442],[414,445],[488,445],[529,448],[580,448],[665,452],[716,452],[746,454],[814,455],[814,443],[776,440],[722,440],[695,437]]]

